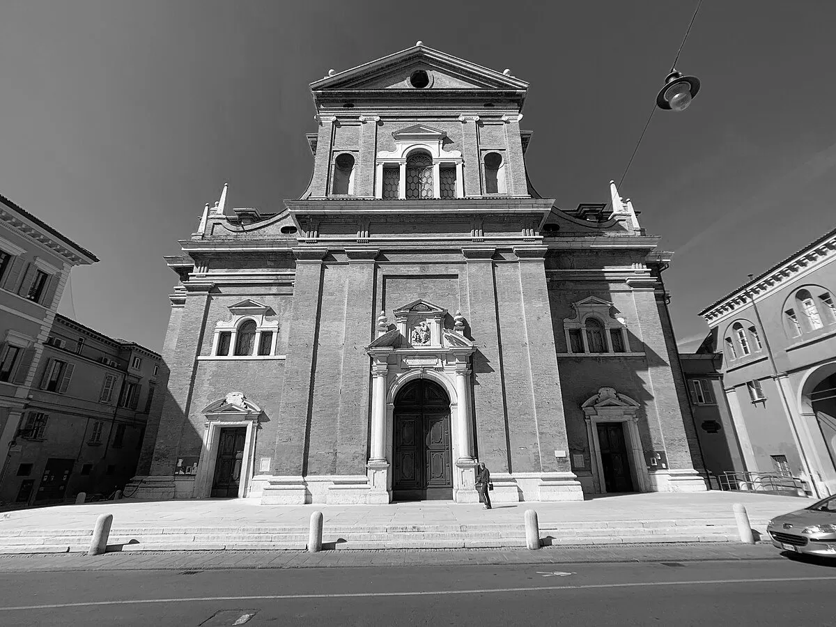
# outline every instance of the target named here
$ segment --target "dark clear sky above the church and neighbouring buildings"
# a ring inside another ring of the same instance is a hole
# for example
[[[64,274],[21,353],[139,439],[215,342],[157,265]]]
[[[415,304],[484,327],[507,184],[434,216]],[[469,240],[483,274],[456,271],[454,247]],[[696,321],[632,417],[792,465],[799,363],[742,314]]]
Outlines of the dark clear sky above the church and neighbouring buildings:
[[[696,1],[0,2],[0,192],[101,261],[60,311],[160,349],[162,256],[230,183],[275,212],[313,160],[308,83],[417,39],[531,83],[528,171],[558,206],[609,200]],[[836,3],[705,0],[621,195],[675,251],[681,346],[704,306],[836,225]],[[836,286],[834,286],[836,287]]]

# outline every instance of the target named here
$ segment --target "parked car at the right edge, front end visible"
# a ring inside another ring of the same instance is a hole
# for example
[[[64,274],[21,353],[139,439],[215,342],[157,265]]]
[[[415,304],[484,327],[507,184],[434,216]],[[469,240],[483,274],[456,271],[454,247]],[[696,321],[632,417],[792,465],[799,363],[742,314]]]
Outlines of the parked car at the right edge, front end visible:
[[[836,558],[836,496],[772,518],[767,532],[784,551]]]

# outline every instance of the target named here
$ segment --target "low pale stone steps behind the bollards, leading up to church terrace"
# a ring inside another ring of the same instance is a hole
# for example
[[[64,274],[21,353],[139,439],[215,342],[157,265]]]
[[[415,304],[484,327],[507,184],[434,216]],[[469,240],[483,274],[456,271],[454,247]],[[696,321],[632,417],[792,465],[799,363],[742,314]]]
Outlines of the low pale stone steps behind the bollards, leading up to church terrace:
[[[766,520],[752,520],[753,528],[765,533]],[[92,530],[5,529],[0,531],[0,553],[85,552]],[[698,520],[602,521],[548,523],[540,526],[545,546],[605,544],[737,542],[733,518]],[[308,543],[307,526],[242,527],[114,527],[109,551],[213,551],[291,550],[303,551]],[[385,548],[504,548],[524,547],[521,523],[477,524],[370,524],[340,526],[325,524],[324,549]]]

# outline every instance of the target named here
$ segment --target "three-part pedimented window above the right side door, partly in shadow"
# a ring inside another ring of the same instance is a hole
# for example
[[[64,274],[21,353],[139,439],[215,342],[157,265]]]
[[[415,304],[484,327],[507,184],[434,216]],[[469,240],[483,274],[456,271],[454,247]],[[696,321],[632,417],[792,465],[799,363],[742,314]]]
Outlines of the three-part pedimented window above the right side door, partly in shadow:
[[[575,317],[563,319],[569,353],[617,354],[630,351],[624,319],[616,319],[609,314],[613,303],[590,296],[572,305]]]

